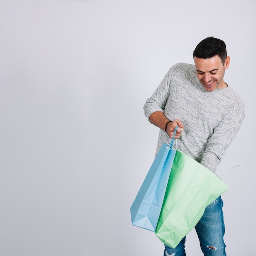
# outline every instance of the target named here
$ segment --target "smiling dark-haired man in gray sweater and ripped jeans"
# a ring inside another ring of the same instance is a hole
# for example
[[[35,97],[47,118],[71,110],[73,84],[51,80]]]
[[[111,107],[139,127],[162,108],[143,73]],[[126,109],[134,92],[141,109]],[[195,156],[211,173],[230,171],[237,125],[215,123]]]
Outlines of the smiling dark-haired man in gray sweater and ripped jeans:
[[[242,99],[225,83],[229,67],[225,43],[214,37],[202,40],[193,52],[195,65],[173,65],[159,87],[144,105],[150,123],[160,128],[157,152],[169,143],[176,126],[177,148],[211,170],[216,171],[225,151],[236,136],[245,117]],[[225,227],[219,197],[211,203],[195,229],[205,256],[225,256]],[[185,238],[165,256],[185,256]]]

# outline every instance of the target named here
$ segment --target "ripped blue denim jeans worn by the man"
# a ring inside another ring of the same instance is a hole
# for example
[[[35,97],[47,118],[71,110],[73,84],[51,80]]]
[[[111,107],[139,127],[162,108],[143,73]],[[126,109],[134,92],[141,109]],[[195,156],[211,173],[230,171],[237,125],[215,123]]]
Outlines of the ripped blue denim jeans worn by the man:
[[[209,204],[195,226],[201,250],[204,256],[226,256],[223,236],[225,226],[222,212],[223,202],[221,197]],[[164,256],[186,256],[184,237],[175,249],[165,246]]]

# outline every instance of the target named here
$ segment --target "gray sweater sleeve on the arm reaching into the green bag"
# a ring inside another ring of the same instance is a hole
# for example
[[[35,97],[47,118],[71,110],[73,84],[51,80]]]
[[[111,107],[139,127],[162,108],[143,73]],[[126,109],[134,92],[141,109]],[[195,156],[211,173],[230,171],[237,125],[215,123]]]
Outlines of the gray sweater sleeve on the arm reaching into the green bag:
[[[213,134],[208,140],[207,148],[202,155],[201,164],[212,172],[216,171],[217,165],[235,138],[245,117],[243,101],[238,101],[235,105],[233,110],[225,115],[213,130]]]

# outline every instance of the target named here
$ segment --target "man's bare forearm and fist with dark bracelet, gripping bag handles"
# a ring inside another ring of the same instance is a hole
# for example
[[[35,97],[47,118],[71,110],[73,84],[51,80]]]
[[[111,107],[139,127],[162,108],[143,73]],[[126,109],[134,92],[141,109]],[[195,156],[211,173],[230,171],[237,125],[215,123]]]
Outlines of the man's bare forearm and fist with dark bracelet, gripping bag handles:
[[[160,129],[162,129],[162,130],[166,129],[166,132],[167,132],[167,134],[170,138],[173,136],[173,133],[174,133],[174,130],[175,130],[176,126],[179,126],[180,128],[177,129],[177,131],[176,131],[175,139],[180,138],[180,136],[182,135],[182,130],[183,130],[182,122],[179,119],[175,119],[173,121],[169,120],[164,115],[164,113],[162,111],[153,112],[149,116],[149,120],[152,124],[159,127]],[[171,122],[169,122],[169,121],[171,121]]]

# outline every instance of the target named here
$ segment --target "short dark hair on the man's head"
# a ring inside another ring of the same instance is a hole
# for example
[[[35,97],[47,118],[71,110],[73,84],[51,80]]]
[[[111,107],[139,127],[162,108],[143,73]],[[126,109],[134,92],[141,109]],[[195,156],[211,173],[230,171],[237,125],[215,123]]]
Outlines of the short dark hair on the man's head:
[[[193,52],[193,58],[211,58],[215,55],[220,57],[222,64],[224,65],[227,59],[227,49],[225,42],[218,38],[214,38],[213,36],[202,40],[195,47]]]

